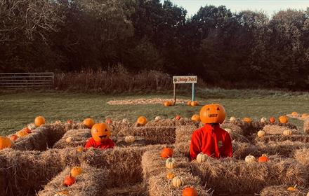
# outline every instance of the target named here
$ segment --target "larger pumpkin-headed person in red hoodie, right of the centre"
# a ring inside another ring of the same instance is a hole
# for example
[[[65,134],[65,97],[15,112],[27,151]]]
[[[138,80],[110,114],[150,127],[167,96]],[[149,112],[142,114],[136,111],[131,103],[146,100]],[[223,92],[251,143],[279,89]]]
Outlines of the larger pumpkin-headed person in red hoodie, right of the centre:
[[[225,109],[221,104],[209,104],[199,111],[199,118],[204,127],[195,130],[190,145],[190,158],[195,160],[199,153],[212,158],[232,157],[230,134],[219,124],[225,120]]]

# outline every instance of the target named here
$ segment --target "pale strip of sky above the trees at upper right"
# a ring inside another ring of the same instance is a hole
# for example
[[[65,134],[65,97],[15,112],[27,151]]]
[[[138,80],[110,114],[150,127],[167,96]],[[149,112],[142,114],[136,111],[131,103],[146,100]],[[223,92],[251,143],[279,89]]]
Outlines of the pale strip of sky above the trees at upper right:
[[[163,1],[163,0],[162,0]],[[171,0],[174,4],[182,6],[188,11],[188,17],[197,13],[201,6],[224,5],[232,12],[241,10],[263,10],[271,17],[278,10],[294,8],[296,10],[305,10],[309,7],[309,0]]]

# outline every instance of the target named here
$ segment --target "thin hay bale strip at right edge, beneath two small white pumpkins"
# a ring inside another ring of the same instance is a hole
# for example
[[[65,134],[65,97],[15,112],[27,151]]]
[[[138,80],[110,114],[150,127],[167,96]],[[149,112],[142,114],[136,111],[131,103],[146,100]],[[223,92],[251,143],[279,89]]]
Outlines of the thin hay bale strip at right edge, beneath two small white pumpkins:
[[[256,138],[256,142],[261,141],[264,143],[268,143],[271,141],[281,142],[281,141],[300,141],[300,142],[309,142],[309,135],[265,135],[264,137]]]

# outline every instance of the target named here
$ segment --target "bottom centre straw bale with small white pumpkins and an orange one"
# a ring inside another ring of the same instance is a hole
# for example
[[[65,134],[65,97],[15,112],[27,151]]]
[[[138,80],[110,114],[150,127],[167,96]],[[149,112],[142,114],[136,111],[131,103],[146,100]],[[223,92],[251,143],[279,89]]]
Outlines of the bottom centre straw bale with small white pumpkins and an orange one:
[[[186,187],[194,187],[198,195],[209,196],[210,190],[205,190],[200,186],[200,179],[193,176],[190,172],[183,169],[173,169],[173,173],[184,179],[185,185],[180,188],[175,188],[171,185],[171,180],[166,179],[166,172],[162,172],[156,176],[151,176],[149,179],[149,195],[150,196],[166,196],[166,195],[182,195],[183,189]]]

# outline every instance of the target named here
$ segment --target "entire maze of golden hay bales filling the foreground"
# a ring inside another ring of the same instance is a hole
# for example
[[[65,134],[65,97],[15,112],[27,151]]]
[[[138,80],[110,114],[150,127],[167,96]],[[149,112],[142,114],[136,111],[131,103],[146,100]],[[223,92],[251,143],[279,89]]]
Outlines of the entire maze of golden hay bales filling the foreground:
[[[190,119],[152,120],[145,126],[114,121],[110,127],[116,146],[105,150],[82,148],[91,138],[82,123],[43,125],[14,141],[12,148],[0,150],[0,195],[163,196],[182,195],[185,188],[206,196],[304,195],[309,186],[309,136],[291,124],[237,122],[221,125],[232,138],[233,158],[202,163],[190,160],[192,133],[202,127]],[[292,134],[284,136],[287,129]],[[259,130],[265,131],[264,137],[257,137]],[[128,142],[127,136],[135,140]],[[166,147],[173,149],[173,169],[160,155]],[[244,160],[263,154],[270,161]],[[83,172],[72,186],[64,186],[65,176],[77,166]],[[178,187],[171,176],[178,178]],[[289,186],[298,192],[291,193]]]

